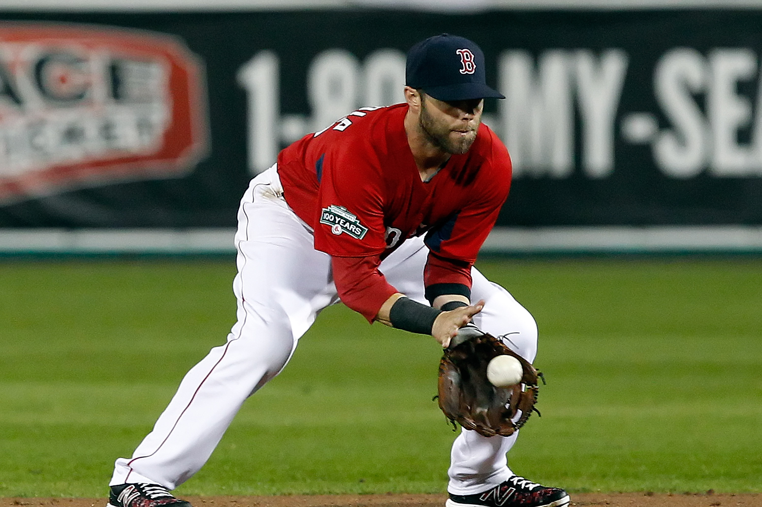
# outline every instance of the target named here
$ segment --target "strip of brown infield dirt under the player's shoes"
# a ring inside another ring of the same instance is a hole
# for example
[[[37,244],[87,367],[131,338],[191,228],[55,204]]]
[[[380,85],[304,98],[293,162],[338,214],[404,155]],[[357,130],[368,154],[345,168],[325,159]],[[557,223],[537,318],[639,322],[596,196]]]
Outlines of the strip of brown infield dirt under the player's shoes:
[[[443,507],[444,495],[189,496],[194,507]],[[3,498],[0,507],[104,507],[104,499]],[[762,494],[575,493],[571,505],[762,507]]]

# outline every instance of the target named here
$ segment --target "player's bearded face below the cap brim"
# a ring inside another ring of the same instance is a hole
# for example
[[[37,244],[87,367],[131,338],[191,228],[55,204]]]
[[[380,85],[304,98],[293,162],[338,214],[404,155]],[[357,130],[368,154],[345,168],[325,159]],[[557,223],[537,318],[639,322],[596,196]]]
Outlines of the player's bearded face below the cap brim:
[[[421,94],[418,123],[432,144],[447,153],[462,155],[476,139],[483,107],[482,99],[443,102]]]

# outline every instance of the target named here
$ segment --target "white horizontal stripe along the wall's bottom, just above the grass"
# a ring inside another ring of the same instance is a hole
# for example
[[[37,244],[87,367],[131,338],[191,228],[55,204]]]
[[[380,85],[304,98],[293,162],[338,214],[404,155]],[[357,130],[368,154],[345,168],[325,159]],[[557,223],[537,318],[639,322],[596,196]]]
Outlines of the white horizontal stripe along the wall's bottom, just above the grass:
[[[233,228],[0,229],[0,253],[235,253]],[[482,253],[762,253],[760,226],[495,228]]]

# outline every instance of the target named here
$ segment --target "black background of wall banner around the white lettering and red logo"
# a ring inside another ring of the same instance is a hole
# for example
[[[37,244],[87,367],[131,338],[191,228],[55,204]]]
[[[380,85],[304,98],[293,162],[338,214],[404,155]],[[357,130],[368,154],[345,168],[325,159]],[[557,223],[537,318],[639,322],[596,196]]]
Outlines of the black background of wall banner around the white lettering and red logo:
[[[114,183],[0,206],[0,227],[189,228],[235,225],[235,211],[251,175],[247,170],[246,91],[236,81],[245,62],[263,49],[280,57],[280,108],[309,114],[306,72],[325,49],[344,48],[363,59],[389,47],[406,51],[436,33],[475,40],[484,49],[488,82],[504,49],[538,55],[549,48],[620,48],[629,55],[617,115],[616,166],[609,177],[520,177],[498,225],[721,225],[762,224],[762,175],[664,175],[648,146],[622,141],[622,111],[658,112],[652,91],[655,63],[669,49],[749,48],[762,55],[759,11],[495,11],[428,14],[400,11],[250,11],[142,14],[3,13],[5,21],[56,21],[139,28],[179,37],[206,65],[210,155],[187,177]],[[758,70],[758,69],[757,69]],[[750,84],[756,88],[755,83]],[[754,101],[754,93],[751,93]],[[696,98],[703,107],[700,97]],[[495,102],[488,103],[495,111]],[[668,125],[663,113],[656,113]],[[577,121],[578,123],[578,121]],[[578,127],[578,124],[577,124]],[[749,136],[740,132],[739,136]]]

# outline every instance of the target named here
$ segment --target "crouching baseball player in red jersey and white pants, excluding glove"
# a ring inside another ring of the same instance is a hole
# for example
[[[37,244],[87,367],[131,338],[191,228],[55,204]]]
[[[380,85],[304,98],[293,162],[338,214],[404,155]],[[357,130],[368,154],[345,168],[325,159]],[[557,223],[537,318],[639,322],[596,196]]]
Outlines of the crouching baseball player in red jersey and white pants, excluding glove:
[[[244,400],[339,300],[441,346],[466,324],[507,335],[533,361],[533,317],[473,267],[511,183],[506,148],[480,125],[482,99],[504,97],[486,85],[479,46],[446,33],[410,49],[406,83],[404,104],[361,107],[251,180],[235,234],[238,320],[133,457],[117,459],[109,507],[190,507],[169,490],[203,466]],[[563,489],[507,467],[516,437],[460,432],[447,507],[568,505]]]

